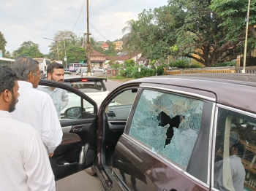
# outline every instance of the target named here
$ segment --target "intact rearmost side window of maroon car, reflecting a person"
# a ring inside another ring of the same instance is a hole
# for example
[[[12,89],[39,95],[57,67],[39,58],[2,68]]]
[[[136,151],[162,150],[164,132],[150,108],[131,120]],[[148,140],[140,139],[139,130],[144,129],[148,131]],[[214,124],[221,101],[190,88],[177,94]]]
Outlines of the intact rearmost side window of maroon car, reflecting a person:
[[[218,190],[256,190],[256,117],[218,109],[214,187]]]

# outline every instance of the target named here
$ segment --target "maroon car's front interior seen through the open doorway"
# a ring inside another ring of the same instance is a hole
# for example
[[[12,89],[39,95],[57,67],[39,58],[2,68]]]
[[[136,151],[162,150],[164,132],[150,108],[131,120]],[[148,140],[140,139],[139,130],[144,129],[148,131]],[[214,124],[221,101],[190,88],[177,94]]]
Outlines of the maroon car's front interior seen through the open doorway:
[[[113,101],[103,106],[105,114],[103,116],[103,140],[102,140],[102,166],[112,180],[113,152],[120,136],[124,133],[129,112],[138,88],[133,87],[118,93]]]

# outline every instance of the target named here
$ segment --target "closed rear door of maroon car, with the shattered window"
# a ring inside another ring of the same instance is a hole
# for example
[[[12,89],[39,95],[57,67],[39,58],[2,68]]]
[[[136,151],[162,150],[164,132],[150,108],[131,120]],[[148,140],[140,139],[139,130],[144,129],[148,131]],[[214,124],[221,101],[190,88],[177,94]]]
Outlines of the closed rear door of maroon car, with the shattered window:
[[[214,104],[162,90],[139,93],[114,150],[113,190],[209,190]]]

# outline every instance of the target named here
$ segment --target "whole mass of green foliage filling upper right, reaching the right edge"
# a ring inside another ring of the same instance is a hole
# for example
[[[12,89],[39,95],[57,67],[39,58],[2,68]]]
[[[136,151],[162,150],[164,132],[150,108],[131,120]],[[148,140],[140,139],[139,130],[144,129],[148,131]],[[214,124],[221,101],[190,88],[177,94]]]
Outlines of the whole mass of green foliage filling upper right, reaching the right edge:
[[[211,2],[217,2],[217,9],[213,10]],[[246,4],[248,0],[169,0],[166,6],[144,10],[138,15],[138,20],[129,20],[124,28],[124,31],[129,30],[124,35],[125,43],[129,45],[130,52],[139,50],[146,58],[161,63],[165,63],[169,55],[174,59],[180,56],[194,58],[205,66],[218,61],[232,61],[244,53]],[[251,26],[256,24],[255,5],[256,1],[253,1]],[[221,15],[222,12],[226,15]],[[230,24],[228,20],[233,17],[239,19]],[[256,40],[248,43],[250,50],[255,47],[253,43],[256,44]],[[233,47],[232,51],[230,47]]]

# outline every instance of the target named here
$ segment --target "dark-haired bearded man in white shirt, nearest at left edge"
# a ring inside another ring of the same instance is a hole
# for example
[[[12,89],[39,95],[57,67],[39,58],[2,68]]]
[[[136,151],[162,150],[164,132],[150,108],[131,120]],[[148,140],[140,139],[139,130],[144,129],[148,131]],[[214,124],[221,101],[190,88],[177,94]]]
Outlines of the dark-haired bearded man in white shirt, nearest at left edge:
[[[0,66],[0,190],[56,190],[37,131],[10,115],[18,102],[18,88],[15,72]]]

